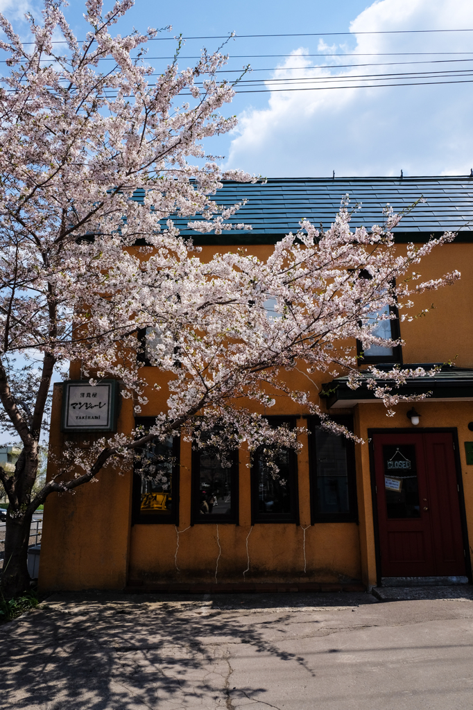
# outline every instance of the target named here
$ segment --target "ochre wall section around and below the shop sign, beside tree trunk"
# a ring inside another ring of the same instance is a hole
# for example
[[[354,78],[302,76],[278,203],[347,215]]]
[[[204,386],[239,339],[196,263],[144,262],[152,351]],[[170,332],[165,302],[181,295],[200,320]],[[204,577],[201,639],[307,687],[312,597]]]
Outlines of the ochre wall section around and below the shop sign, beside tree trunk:
[[[55,474],[65,435],[60,433],[62,386],[56,384],[49,444],[48,478]],[[133,426],[130,400],[123,400],[119,430]],[[70,437],[72,439],[72,437]],[[82,438],[83,437],[82,435]],[[131,471],[100,471],[97,483],[75,493],[52,493],[45,502],[40,589],[122,589],[126,584],[131,523]]]

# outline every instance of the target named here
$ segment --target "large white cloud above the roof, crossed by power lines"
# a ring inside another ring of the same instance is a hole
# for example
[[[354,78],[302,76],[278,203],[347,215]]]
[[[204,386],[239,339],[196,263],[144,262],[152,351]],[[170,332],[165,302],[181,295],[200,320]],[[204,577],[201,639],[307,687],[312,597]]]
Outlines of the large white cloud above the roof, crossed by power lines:
[[[339,51],[357,54],[343,60],[344,64],[423,60],[419,56],[361,56],[369,53],[472,52],[473,33],[467,32],[359,34],[472,27],[472,0],[379,0],[350,26],[357,40],[355,50],[347,50],[344,44]],[[320,47],[327,50],[321,42]],[[473,67],[473,62],[455,62],[342,69],[337,66],[340,60],[335,60],[333,67],[311,69],[322,62],[314,62],[307,54],[304,48],[295,50],[272,78]],[[325,58],[323,63],[328,63]],[[366,80],[354,83],[366,84]],[[228,166],[268,176],[332,175],[332,170],[337,175],[398,175],[401,168],[405,175],[469,173],[473,167],[472,88],[473,84],[459,83],[271,92],[266,109],[249,109],[239,116]]]

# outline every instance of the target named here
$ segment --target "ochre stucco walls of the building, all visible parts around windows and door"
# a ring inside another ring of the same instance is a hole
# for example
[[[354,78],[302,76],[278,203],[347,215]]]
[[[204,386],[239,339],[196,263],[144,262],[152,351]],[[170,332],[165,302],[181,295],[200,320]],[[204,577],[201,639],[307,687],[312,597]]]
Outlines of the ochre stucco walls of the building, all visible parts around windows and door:
[[[215,251],[235,251],[238,247],[205,247],[202,258]],[[271,246],[247,248],[261,258],[272,251]],[[399,246],[399,251],[405,251]],[[455,359],[455,365],[473,367],[473,245],[450,244],[435,249],[414,271],[423,280],[438,278],[457,268],[462,280],[437,292],[428,292],[415,299],[416,315],[430,308],[425,317],[401,324],[405,364],[445,362]],[[401,311],[402,313],[403,311]],[[71,377],[79,376],[79,366],[71,368]],[[154,368],[144,368],[148,381],[158,377]],[[330,381],[330,375],[311,376],[317,386]],[[313,398],[317,390],[300,373],[291,374],[293,387],[308,391]],[[60,458],[64,436],[60,434],[60,386],[55,387],[51,421],[50,452]],[[149,403],[141,415],[156,415],[165,408],[165,388],[159,393],[151,388],[146,393]],[[323,403],[322,403],[323,406]],[[366,403],[351,410],[355,431],[366,439],[369,428],[406,428],[406,411],[411,404],[396,407],[394,417],[386,417],[384,405]],[[457,427],[464,482],[467,525],[473,530],[473,466],[466,466],[464,441],[473,440],[467,424],[473,420],[473,403],[416,403],[422,415],[420,427]],[[290,400],[277,398],[271,410],[263,414],[305,415]],[[335,412],[334,410],[334,413]],[[340,413],[340,410],[338,410]],[[302,421],[300,423],[303,423]],[[133,403],[123,400],[119,416],[119,431],[133,427]],[[248,454],[240,452],[239,525],[218,527],[220,557],[217,580],[243,581],[248,567],[248,581],[346,581],[364,580],[376,584],[374,554],[374,523],[367,444],[356,447],[357,494],[359,525],[356,523],[325,523],[310,526],[305,531],[306,570],[304,574],[303,528],[310,525],[308,448],[306,439],[298,454],[300,492],[300,525],[269,523],[254,525],[251,530]],[[55,472],[50,457],[49,475]],[[75,495],[53,494],[45,504],[43,542],[40,562],[41,589],[121,589],[127,579],[152,581],[214,581],[219,547],[216,525],[190,525],[190,444],[183,442],[180,459],[180,522],[179,549],[175,558],[177,531],[174,525],[131,526],[131,472],[119,476],[116,471],[101,471],[98,483],[78,488]],[[251,530],[251,533],[250,533]],[[249,537],[248,537],[249,535]],[[473,533],[472,533],[473,535]],[[472,541],[473,542],[473,541]],[[471,543],[470,543],[471,545]],[[472,548],[470,547],[470,552]],[[177,567],[176,568],[176,561]]]

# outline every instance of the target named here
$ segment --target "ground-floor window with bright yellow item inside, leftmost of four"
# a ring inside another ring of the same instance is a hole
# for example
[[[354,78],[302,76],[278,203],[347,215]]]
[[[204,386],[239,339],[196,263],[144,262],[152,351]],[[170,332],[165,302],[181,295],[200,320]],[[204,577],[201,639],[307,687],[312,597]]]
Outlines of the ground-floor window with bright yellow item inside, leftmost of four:
[[[154,424],[154,420],[136,420]],[[134,467],[133,523],[178,524],[179,437],[151,442],[138,450]]]

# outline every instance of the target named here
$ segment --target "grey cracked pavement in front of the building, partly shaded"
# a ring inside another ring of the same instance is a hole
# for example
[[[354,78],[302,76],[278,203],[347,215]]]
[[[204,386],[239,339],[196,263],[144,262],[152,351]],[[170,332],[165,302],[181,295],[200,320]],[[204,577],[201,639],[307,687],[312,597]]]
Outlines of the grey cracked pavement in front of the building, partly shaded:
[[[0,626],[2,707],[471,710],[469,589],[56,594]]]

